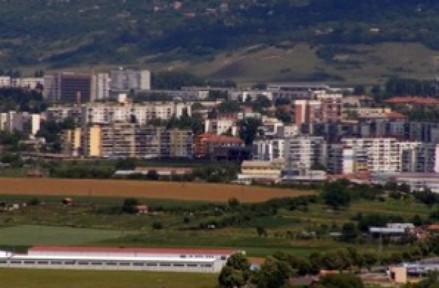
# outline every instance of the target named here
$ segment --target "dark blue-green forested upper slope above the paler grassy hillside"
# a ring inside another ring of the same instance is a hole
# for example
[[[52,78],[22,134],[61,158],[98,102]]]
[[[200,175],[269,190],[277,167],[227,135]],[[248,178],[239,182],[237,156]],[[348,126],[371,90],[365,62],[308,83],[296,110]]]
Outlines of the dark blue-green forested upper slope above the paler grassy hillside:
[[[437,0],[0,0],[0,68],[127,63],[168,51],[205,57],[295,42],[439,49],[438,15]]]

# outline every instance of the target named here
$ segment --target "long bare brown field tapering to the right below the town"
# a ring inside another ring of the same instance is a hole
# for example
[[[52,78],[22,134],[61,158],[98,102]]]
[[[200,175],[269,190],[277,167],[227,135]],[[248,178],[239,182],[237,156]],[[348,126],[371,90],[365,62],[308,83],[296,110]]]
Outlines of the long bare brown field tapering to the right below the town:
[[[232,184],[149,182],[134,180],[75,180],[51,178],[0,178],[0,194],[93,195],[225,202],[262,202],[276,197],[310,195],[312,191],[251,187]]]

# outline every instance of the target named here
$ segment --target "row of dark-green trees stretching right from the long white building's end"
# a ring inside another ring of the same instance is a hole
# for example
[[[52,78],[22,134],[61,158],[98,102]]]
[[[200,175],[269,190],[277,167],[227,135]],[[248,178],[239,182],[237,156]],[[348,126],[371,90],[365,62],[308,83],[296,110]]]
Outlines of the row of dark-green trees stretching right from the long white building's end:
[[[308,258],[300,258],[285,252],[268,256],[259,271],[250,271],[250,263],[244,254],[233,254],[218,277],[222,287],[244,287],[254,285],[261,288],[283,287],[290,277],[318,274],[320,269],[336,269],[341,272],[356,267],[370,267],[377,258],[374,254],[359,253],[354,248],[330,252],[315,252]],[[332,278],[334,277],[334,278]],[[353,274],[322,277],[323,287],[363,287],[361,280]],[[326,286],[327,285],[327,286]]]

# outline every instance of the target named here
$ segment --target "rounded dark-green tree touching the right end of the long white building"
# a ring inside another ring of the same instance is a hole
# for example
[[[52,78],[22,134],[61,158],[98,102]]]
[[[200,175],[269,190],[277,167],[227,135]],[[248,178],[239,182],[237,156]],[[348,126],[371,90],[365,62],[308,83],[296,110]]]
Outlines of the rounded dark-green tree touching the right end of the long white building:
[[[231,255],[226,265],[221,269],[218,283],[224,287],[242,287],[246,285],[250,276],[250,263],[244,254]]]

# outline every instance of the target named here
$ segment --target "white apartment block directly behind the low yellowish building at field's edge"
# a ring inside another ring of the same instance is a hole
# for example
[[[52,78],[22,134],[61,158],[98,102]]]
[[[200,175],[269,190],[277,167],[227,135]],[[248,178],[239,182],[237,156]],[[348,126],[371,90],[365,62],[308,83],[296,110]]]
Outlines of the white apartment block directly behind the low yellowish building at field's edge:
[[[259,139],[253,147],[255,160],[285,159],[285,139]]]

